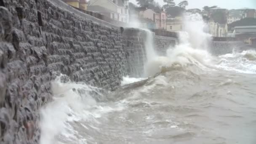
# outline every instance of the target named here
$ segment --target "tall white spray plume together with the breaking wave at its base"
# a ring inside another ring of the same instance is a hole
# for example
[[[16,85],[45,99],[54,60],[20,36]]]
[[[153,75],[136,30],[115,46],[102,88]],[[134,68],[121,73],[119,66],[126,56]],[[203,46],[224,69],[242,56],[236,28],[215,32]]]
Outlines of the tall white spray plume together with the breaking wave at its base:
[[[166,57],[156,56],[152,61],[148,61],[145,67],[146,76],[155,75],[163,68],[170,70],[196,66],[199,69],[211,69],[208,65],[211,54],[207,51],[211,35],[205,33],[205,27],[206,24],[199,14],[185,15],[184,31],[179,32],[180,43],[174,48],[168,48]]]

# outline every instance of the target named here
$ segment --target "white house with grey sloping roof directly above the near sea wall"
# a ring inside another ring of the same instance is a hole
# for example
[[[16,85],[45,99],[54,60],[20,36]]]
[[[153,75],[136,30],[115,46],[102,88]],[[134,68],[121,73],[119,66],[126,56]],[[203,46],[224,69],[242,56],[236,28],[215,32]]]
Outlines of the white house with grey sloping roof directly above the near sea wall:
[[[129,0],[91,0],[88,11],[98,11],[111,19],[129,23],[128,5]]]

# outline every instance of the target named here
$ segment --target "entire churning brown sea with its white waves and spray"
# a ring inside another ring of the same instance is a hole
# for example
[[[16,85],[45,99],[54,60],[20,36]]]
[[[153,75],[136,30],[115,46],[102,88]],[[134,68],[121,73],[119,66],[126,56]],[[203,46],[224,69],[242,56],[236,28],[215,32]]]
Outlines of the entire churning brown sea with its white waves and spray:
[[[189,16],[181,43],[147,48],[146,77],[115,92],[58,77],[41,144],[256,144],[256,51],[212,56],[204,26]]]

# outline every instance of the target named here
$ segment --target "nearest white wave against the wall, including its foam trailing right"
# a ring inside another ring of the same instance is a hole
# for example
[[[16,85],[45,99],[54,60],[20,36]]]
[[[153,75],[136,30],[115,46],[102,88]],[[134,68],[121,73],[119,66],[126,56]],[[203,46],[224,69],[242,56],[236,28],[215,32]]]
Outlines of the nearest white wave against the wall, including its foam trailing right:
[[[52,82],[53,101],[40,109],[40,144],[87,144],[90,136],[81,136],[74,127],[75,123],[82,125],[84,132],[100,131],[94,125],[98,123],[97,118],[123,109],[120,104],[107,106],[98,102],[92,93],[97,97],[102,95],[100,88],[70,80],[61,83],[64,76],[60,75]]]

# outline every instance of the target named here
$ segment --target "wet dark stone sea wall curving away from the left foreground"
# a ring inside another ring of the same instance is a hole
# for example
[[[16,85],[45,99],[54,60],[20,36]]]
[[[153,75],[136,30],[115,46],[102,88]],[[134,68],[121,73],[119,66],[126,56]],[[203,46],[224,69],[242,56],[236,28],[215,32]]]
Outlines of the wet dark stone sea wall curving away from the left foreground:
[[[39,143],[39,109],[60,73],[110,91],[124,75],[141,76],[145,35],[60,0],[0,0],[1,144]]]

